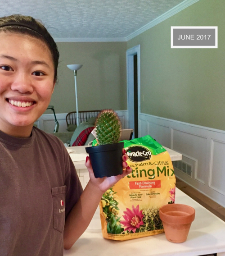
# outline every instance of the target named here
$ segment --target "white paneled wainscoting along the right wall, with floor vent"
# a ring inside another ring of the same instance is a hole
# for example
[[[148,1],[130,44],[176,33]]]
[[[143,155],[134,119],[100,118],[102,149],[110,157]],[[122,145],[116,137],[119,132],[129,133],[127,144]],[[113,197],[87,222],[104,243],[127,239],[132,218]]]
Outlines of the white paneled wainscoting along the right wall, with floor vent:
[[[147,134],[191,166],[190,175],[175,168],[178,178],[225,207],[225,131],[139,114],[139,137]]]

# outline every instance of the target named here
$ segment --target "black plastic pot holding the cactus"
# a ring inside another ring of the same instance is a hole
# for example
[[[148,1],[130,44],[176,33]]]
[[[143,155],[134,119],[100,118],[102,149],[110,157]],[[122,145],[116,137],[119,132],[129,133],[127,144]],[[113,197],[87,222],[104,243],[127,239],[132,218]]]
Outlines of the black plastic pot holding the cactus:
[[[122,174],[123,142],[86,147],[90,156],[95,178],[111,177]]]

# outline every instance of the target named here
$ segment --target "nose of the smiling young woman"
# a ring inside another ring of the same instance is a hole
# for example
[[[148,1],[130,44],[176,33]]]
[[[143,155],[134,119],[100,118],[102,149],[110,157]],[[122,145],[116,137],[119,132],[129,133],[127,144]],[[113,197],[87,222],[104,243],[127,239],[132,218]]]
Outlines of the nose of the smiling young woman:
[[[32,93],[33,86],[30,76],[25,73],[18,73],[14,77],[14,81],[11,84],[11,89],[13,91],[19,91],[20,93]]]

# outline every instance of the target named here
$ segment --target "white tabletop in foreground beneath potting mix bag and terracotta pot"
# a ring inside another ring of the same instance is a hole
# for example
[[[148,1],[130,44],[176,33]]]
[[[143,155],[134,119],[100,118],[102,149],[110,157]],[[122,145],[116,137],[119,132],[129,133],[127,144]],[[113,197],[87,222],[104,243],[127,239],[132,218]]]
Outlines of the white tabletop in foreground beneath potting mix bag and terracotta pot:
[[[175,203],[192,206],[196,210],[188,238],[183,243],[166,240],[165,233],[127,241],[104,239],[99,227],[87,229],[64,256],[200,256],[217,253],[225,256],[225,222],[176,188]],[[96,220],[99,215],[94,215]],[[97,224],[98,224],[97,223]]]

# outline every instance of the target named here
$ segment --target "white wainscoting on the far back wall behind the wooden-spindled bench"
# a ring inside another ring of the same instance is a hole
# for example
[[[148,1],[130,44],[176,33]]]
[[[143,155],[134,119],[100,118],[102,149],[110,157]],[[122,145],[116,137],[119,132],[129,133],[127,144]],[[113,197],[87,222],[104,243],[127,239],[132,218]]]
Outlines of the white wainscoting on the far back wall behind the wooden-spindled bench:
[[[122,128],[127,129],[128,128],[127,110],[118,110],[116,112],[121,120]],[[59,133],[67,132],[67,123],[66,123],[67,113],[55,114],[55,115],[56,115],[56,119],[59,123],[58,132]],[[35,124],[37,125],[38,128],[45,131],[46,133],[53,133],[54,127],[55,127],[54,114],[43,114],[35,122]]]

